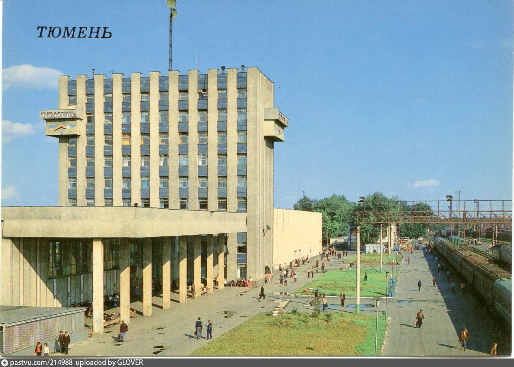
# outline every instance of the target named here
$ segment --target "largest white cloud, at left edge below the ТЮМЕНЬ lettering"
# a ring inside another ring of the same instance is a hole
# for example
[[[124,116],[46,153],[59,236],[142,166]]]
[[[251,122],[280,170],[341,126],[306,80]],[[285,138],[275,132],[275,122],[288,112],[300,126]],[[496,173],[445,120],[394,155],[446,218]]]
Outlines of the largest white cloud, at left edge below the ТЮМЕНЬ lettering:
[[[64,73],[51,67],[13,65],[2,70],[2,89],[16,87],[56,89],[59,85],[59,75]]]

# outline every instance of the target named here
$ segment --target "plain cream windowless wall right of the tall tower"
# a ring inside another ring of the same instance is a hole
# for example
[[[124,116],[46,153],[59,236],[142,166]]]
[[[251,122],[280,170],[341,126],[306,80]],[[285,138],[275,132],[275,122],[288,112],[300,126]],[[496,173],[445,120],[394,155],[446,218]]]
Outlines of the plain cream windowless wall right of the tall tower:
[[[321,213],[273,209],[273,266],[321,251]]]

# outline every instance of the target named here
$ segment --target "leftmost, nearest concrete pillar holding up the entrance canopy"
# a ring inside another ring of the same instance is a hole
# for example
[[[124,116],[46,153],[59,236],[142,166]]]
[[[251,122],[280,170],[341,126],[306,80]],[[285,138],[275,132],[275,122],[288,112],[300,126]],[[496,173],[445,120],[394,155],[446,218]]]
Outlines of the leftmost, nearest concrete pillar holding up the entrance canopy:
[[[93,239],[93,332],[103,334],[103,243]]]

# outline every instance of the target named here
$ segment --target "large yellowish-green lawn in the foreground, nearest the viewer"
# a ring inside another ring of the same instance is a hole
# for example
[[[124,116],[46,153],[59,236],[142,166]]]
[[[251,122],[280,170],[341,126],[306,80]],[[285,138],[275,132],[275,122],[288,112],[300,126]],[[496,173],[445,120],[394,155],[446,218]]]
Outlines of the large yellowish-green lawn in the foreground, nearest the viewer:
[[[241,325],[196,349],[192,356],[373,356],[376,313],[258,313]],[[378,320],[378,351],[386,316]]]

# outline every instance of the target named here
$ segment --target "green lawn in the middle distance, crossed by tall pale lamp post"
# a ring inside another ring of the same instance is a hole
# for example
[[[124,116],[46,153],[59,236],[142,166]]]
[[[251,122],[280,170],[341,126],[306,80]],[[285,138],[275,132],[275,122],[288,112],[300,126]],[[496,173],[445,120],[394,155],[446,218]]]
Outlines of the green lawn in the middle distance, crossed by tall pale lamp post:
[[[387,269],[390,270],[390,269]],[[356,269],[329,270],[314,278],[314,281],[297,289],[293,294],[305,294],[307,287],[321,289],[326,295],[355,296]],[[364,282],[364,273],[368,273],[368,281]],[[395,274],[397,279],[397,275]],[[313,293],[314,294],[314,293]],[[386,296],[386,269],[380,274],[380,269],[360,270],[360,295],[362,297]]]

